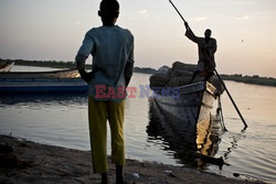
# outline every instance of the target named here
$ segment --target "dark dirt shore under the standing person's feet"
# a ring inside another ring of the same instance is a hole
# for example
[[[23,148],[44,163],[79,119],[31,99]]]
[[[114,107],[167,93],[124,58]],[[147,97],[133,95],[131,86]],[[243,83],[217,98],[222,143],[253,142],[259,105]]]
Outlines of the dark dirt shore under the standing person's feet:
[[[93,174],[92,158],[88,151],[39,144],[7,136],[0,136],[0,147],[1,184],[100,183],[99,175]],[[114,184],[115,167],[110,164],[110,160],[109,165],[109,181],[110,184]],[[129,184],[263,183],[135,160],[127,160],[125,177]]]

